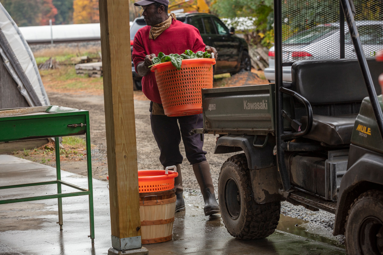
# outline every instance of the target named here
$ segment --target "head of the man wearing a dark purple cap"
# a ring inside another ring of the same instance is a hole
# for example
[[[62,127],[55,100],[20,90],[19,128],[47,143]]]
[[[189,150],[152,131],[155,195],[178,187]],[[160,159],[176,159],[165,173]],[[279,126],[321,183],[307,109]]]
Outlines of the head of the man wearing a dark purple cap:
[[[134,3],[136,6],[142,6],[142,16],[144,16],[146,25],[153,26],[164,22],[169,17],[167,9],[169,0],[141,0]]]

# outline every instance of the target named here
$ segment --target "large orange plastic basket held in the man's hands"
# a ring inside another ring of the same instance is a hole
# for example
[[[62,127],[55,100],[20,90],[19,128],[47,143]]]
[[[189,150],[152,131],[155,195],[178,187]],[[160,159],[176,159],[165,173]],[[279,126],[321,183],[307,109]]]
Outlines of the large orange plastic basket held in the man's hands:
[[[167,116],[186,116],[202,112],[201,89],[213,88],[215,59],[184,59],[177,70],[171,62],[154,65],[162,106]]]

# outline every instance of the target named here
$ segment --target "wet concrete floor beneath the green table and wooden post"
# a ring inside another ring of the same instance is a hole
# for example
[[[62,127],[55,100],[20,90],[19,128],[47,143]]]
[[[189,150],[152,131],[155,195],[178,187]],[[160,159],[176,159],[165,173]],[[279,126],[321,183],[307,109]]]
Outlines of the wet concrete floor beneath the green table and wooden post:
[[[87,178],[61,172],[62,180],[87,187]],[[0,155],[0,186],[55,180],[55,168],[11,155]],[[99,255],[111,247],[107,182],[93,179],[95,244],[89,235],[87,196],[63,198],[63,231],[59,230],[57,199],[0,205],[0,255]],[[72,191],[71,188],[63,190]],[[56,193],[56,185],[0,190],[0,199]],[[266,239],[231,237],[219,215],[187,205],[175,215],[173,240],[144,245],[149,254],[345,254],[344,249],[276,230]]]

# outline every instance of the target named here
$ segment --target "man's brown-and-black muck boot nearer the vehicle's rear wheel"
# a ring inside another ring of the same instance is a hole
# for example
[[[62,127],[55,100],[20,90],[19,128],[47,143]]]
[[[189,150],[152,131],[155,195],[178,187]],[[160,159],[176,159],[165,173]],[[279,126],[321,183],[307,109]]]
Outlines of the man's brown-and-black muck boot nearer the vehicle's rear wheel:
[[[193,164],[193,171],[200,185],[203,200],[205,201],[205,207],[203,208],[205,216],[218,213],[219,206],[214,195],[213,179],[211,179],[209,162],[203,161]]]

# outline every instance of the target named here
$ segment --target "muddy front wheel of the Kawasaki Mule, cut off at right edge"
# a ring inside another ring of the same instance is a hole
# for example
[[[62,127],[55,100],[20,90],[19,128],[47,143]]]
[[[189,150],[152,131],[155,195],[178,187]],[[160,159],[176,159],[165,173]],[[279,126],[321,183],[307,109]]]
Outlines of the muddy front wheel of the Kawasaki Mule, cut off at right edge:
[[[369,190],[354,200],[345,223],[347,254],[383,254],[382,212],[380,190]]]

